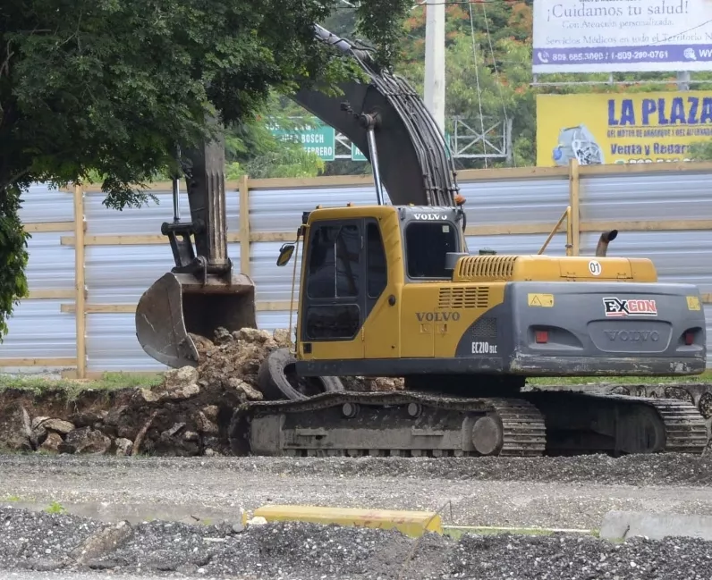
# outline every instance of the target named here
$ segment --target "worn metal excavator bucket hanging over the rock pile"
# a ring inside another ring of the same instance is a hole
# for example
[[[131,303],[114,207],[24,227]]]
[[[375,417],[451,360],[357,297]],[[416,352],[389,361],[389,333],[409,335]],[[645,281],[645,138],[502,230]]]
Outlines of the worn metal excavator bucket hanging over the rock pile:
[[[136,336],[150,357],[174,368],[198,366],[191,334],[215,338],[222,326],[229,332],[257,328],[255,284],[233,274],[203,282],[192,274],[166,273],[146,290],[136,307]]]

